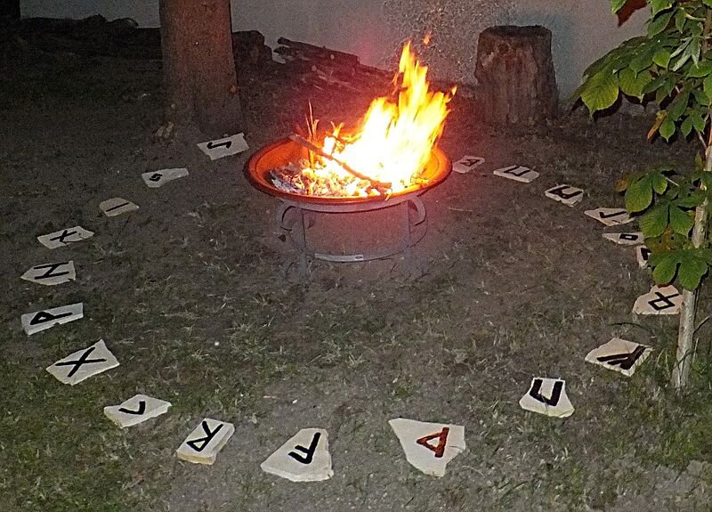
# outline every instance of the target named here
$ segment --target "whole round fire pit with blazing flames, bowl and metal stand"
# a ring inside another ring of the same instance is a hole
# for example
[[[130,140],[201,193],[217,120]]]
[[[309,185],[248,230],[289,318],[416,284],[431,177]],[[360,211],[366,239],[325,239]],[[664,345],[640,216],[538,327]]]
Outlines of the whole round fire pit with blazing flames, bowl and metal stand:
[[[308,256],[368,261],[408,250],[425,235],[424,229],[415,229],[425,222],[418,196],[442,183],[452,170],[449,158],[435,146],[451,96],[430,91],[426,73],[406,45],[394,99],[374,100],[359,129],[344,134],[336,126],[332,133],[318,135],[318,121],[309,119],[306,138],[293,135],[273,142],[247,161],[249,183],[282,201],[278,223],[299,251],[303,273]],[[410,214],[411,207],[416,215]],[[308,243],[304,212],[360,215],[385,208],[400,210],[400,228],[394,223],[387,230],[400,236],[386,247],[341,254],[320,252]],[[287,215],[292,210],[295,215]]]

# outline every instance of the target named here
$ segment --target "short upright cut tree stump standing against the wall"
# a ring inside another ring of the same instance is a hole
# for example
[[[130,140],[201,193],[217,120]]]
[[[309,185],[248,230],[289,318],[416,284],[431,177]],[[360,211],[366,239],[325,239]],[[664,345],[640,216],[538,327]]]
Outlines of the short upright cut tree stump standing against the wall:
[[[486,28],[477,44],[475,77],[482,119],[495,126],[554,118],[558,103],[551,30]]]

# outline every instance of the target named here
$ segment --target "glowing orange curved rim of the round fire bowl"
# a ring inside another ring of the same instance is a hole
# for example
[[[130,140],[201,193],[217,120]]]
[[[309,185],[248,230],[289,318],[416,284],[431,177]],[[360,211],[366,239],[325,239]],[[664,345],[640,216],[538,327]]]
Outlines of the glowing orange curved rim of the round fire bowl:
[[[435,159],[439,172],[433,178],[433,180],[426,183],[425,185],[415,185],[404,191],[392,194],[388,199],[380,196],[368,196],[358,198],[333,198],[325,196],[308,196],[303,194],[295,194],[292,192],[279,190],[266,179],[267,171],[259,170],[257,168],[261,158],[263,158],[271,151],[277,150],[278,148],[287,144],[298,145],[296,142],[293,142],[289,138],[285,137],[283,139],[278,139],[277,141],[271,142],[260,150],[257,150],[250,158],[247,159],[245,167],[243,167],[243,173],[245,174],[247,181],[258,191],[263,191],[266,194],[269,194],[279,199],[291,201],[293,203],[308,203],[323,206],[332,205],[336,207],[338,205],[375,205],[376,203],[389,203],[391,201],[395,202],[394,199],[400,199],[398,202],[401,202],[401,200],[407,199],[409,196],[420,195],[422,193],[425,193],[426,191],[429,191],[430,189],[433,189],[434,187],[438,186],[446,179],[448,179],[450,173],[452,173],[452,160],[448,157],[448,155],[445,154],[443,150],[441,150],[437,146],[434,146],[429,163],[432,162],[433,159]],[[441,168],[444,169],[444,171],[440,172]]]

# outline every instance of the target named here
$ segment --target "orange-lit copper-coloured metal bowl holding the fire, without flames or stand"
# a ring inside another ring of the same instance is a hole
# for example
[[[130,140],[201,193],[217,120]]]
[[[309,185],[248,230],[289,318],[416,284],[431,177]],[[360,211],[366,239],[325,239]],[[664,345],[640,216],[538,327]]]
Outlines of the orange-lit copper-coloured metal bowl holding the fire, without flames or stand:
[[[308,158],[308,150],[306,148],[289,139],[281,139],[265,146],[247,160],[247,164],[245,164],[245,176],[247,177],[247,181],[252,183],[256,189],[295,203],[312,203],[314,205],[325,206],[355,206],[357,204],[364,204],[365,206],[366,203],[386,201],[386,198],[382,196],[325,197],[297,194],[282,191],[271,183],[269,173],[272,169],[286,167],[290,162],[297,162],[302,158]],[[452,172],[452,162],[450,159],[438,148],[433,148],[430,159],[425,165],[425,170],[420,175],[420,177],[425,180],[425,183],[414,185],[408,189],[394,193],[390,198],[403,199],[404,196],[411,194],[421,194],[444,182],[450,172]]]

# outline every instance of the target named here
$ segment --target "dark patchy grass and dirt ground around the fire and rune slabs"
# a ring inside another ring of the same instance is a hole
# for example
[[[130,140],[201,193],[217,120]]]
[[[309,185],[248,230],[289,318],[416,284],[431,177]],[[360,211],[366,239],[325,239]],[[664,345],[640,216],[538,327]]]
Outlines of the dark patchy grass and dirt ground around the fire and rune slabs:
[[[281,272],[295,255],[274,219],[279,201],[242,167],[303,124],[308,102],[327,122],[349,121],[370,95],[319,91],[277,66],[245,70],[252,150],[211,162],[199,134],[154,136],[158,61],[28,52],[3,62],[0,509],[709,509],[708,330],[683,400],[667,389],[676,319],[630,313],[651,277],[583,215],[621,206],[616,179],[659,158],[689,161],[692,143],[645,142],[647,118],[582,112],[507,134],[456,96],[441,147],[487,162],[424,195],[417,257],[313,262],[298,282]],[[513,163],[541,177],[491,175]],[[164,167],[190,176],[147,189],[141,174]],[[586,198],[573,208],[546,199],[558,183]],[[141,209],[101,215],[116,196]],[[53,251],[36,241],[77,224],[96,234]],[[77,281],[20,280],[63,259]],[[82,321],[20,329],[22,313],[78,301]],[[584,362],[613,335],[655,349],[633,378]],[[100,338],[117,369],[78,386],[44,371]],[[565,378],[573,416],[521,410],[533,377]],[[135,393],[173,408],[119,430],[101,409]],[[176,459],[205,417],[236,427],[215,465]],[[387,424],[397,417],[464,425],[467,450],[444,477],[422,475]],[[263,474],[263,459],[304,427],[328,429],[335,476]]]

